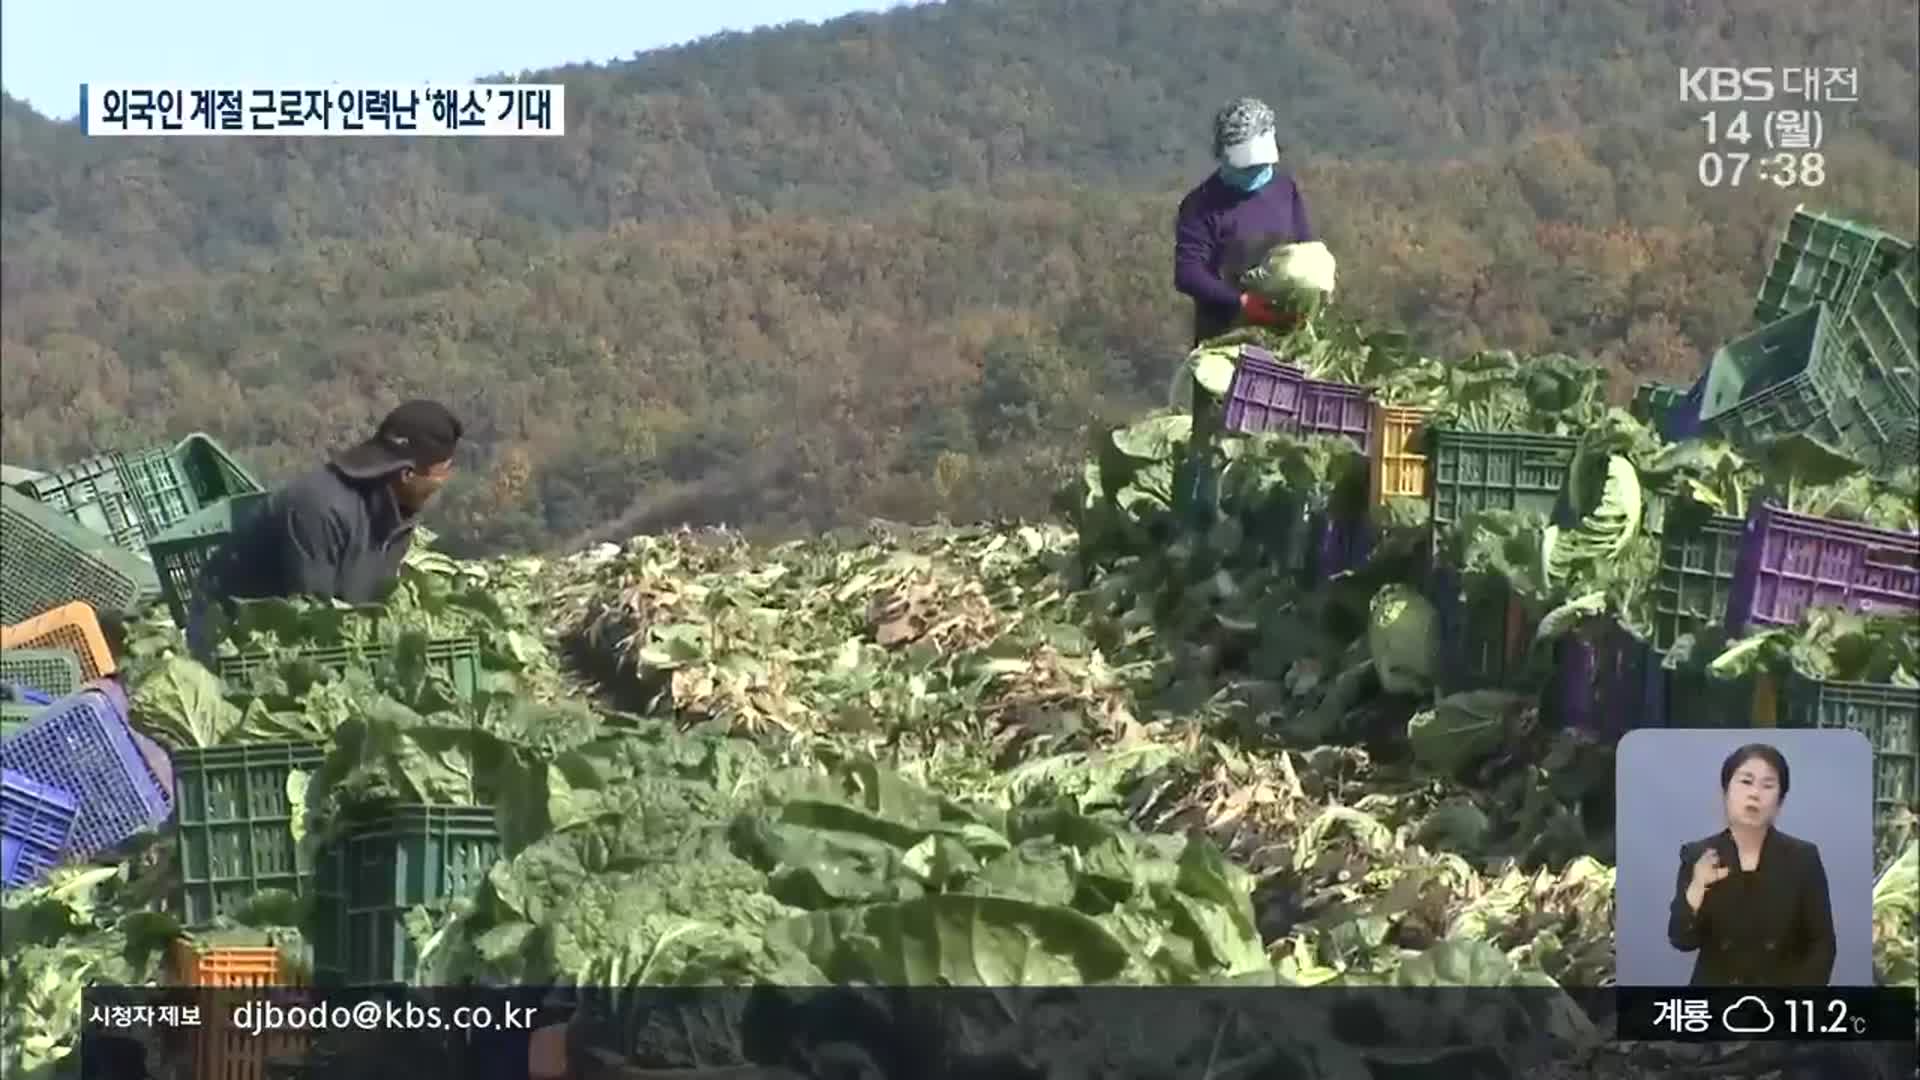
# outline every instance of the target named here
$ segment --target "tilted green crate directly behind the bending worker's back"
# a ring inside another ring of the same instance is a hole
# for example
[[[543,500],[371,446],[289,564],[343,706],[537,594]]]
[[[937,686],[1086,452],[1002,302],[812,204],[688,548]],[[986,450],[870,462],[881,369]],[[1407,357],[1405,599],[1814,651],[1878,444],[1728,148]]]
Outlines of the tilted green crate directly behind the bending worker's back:
[[[202,432],[177,446],[98,454],[19,488],[132,552],[146,550],[154,536],[217,500],[261,490],[259,480]]]

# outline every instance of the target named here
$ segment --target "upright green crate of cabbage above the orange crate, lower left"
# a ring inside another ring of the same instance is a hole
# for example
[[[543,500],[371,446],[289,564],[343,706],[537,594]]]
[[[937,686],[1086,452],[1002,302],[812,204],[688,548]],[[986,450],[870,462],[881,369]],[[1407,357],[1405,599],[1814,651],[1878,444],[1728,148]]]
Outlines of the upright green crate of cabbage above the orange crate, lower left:
[[[188,926],[234,915],[263,890],[300,896],[286,780],[319,769],[319,742],[261,742],[173,751],[179,871],[175,909]]]

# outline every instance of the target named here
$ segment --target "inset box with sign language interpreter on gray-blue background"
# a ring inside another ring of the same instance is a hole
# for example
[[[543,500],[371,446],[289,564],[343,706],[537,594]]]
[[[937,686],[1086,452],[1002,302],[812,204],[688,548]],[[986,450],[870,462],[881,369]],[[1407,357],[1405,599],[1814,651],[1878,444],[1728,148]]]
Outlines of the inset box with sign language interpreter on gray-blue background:
[[[1615,769],[1620,986],[1872,986],[1866,736],[1640,728]]]

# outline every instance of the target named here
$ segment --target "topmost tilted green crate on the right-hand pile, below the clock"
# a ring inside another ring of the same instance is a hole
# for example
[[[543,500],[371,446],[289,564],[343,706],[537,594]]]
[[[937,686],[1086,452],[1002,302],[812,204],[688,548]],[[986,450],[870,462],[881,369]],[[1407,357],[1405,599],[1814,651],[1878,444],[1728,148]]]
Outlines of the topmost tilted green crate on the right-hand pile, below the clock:
[[[1872,288],[1912,244],[1805,204],[1793,208],[1774,261],[1753,302],[1753,321],[1772,323],[1812,304],[1845,309],[1859,288]]]

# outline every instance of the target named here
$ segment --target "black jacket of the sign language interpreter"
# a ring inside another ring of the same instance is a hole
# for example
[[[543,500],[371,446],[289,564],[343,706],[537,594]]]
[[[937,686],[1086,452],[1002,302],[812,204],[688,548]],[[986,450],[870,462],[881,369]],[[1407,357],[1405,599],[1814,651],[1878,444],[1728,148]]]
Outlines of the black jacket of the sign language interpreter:
[[[1699,911],[1686,886],[1707,847],[1720,851],[1728,876],[1707,886]],[[1834,907],[1820,849],[1778,828],[1766,830],[1761,861],[1740,869],[1734,834],[1720,830],[1680,846],[1667,940],[1699,951],[1693,986],[1828,986],[1834,978]]]

